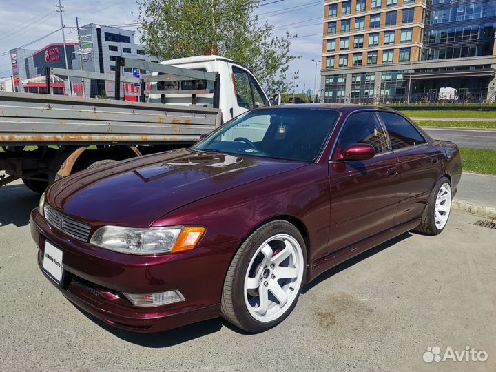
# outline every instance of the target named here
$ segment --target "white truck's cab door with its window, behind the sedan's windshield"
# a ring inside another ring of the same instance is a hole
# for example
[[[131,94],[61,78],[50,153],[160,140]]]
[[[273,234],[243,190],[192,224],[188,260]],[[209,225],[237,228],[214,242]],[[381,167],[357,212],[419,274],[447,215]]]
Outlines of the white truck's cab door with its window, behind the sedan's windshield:
[[[231,117],[234,118],[243,112],[258,107],[269,105],[269,101],[258,81],[247,70],[238,66],[232,66],[232,81],[234,86],[234,96],[230,109]]]

